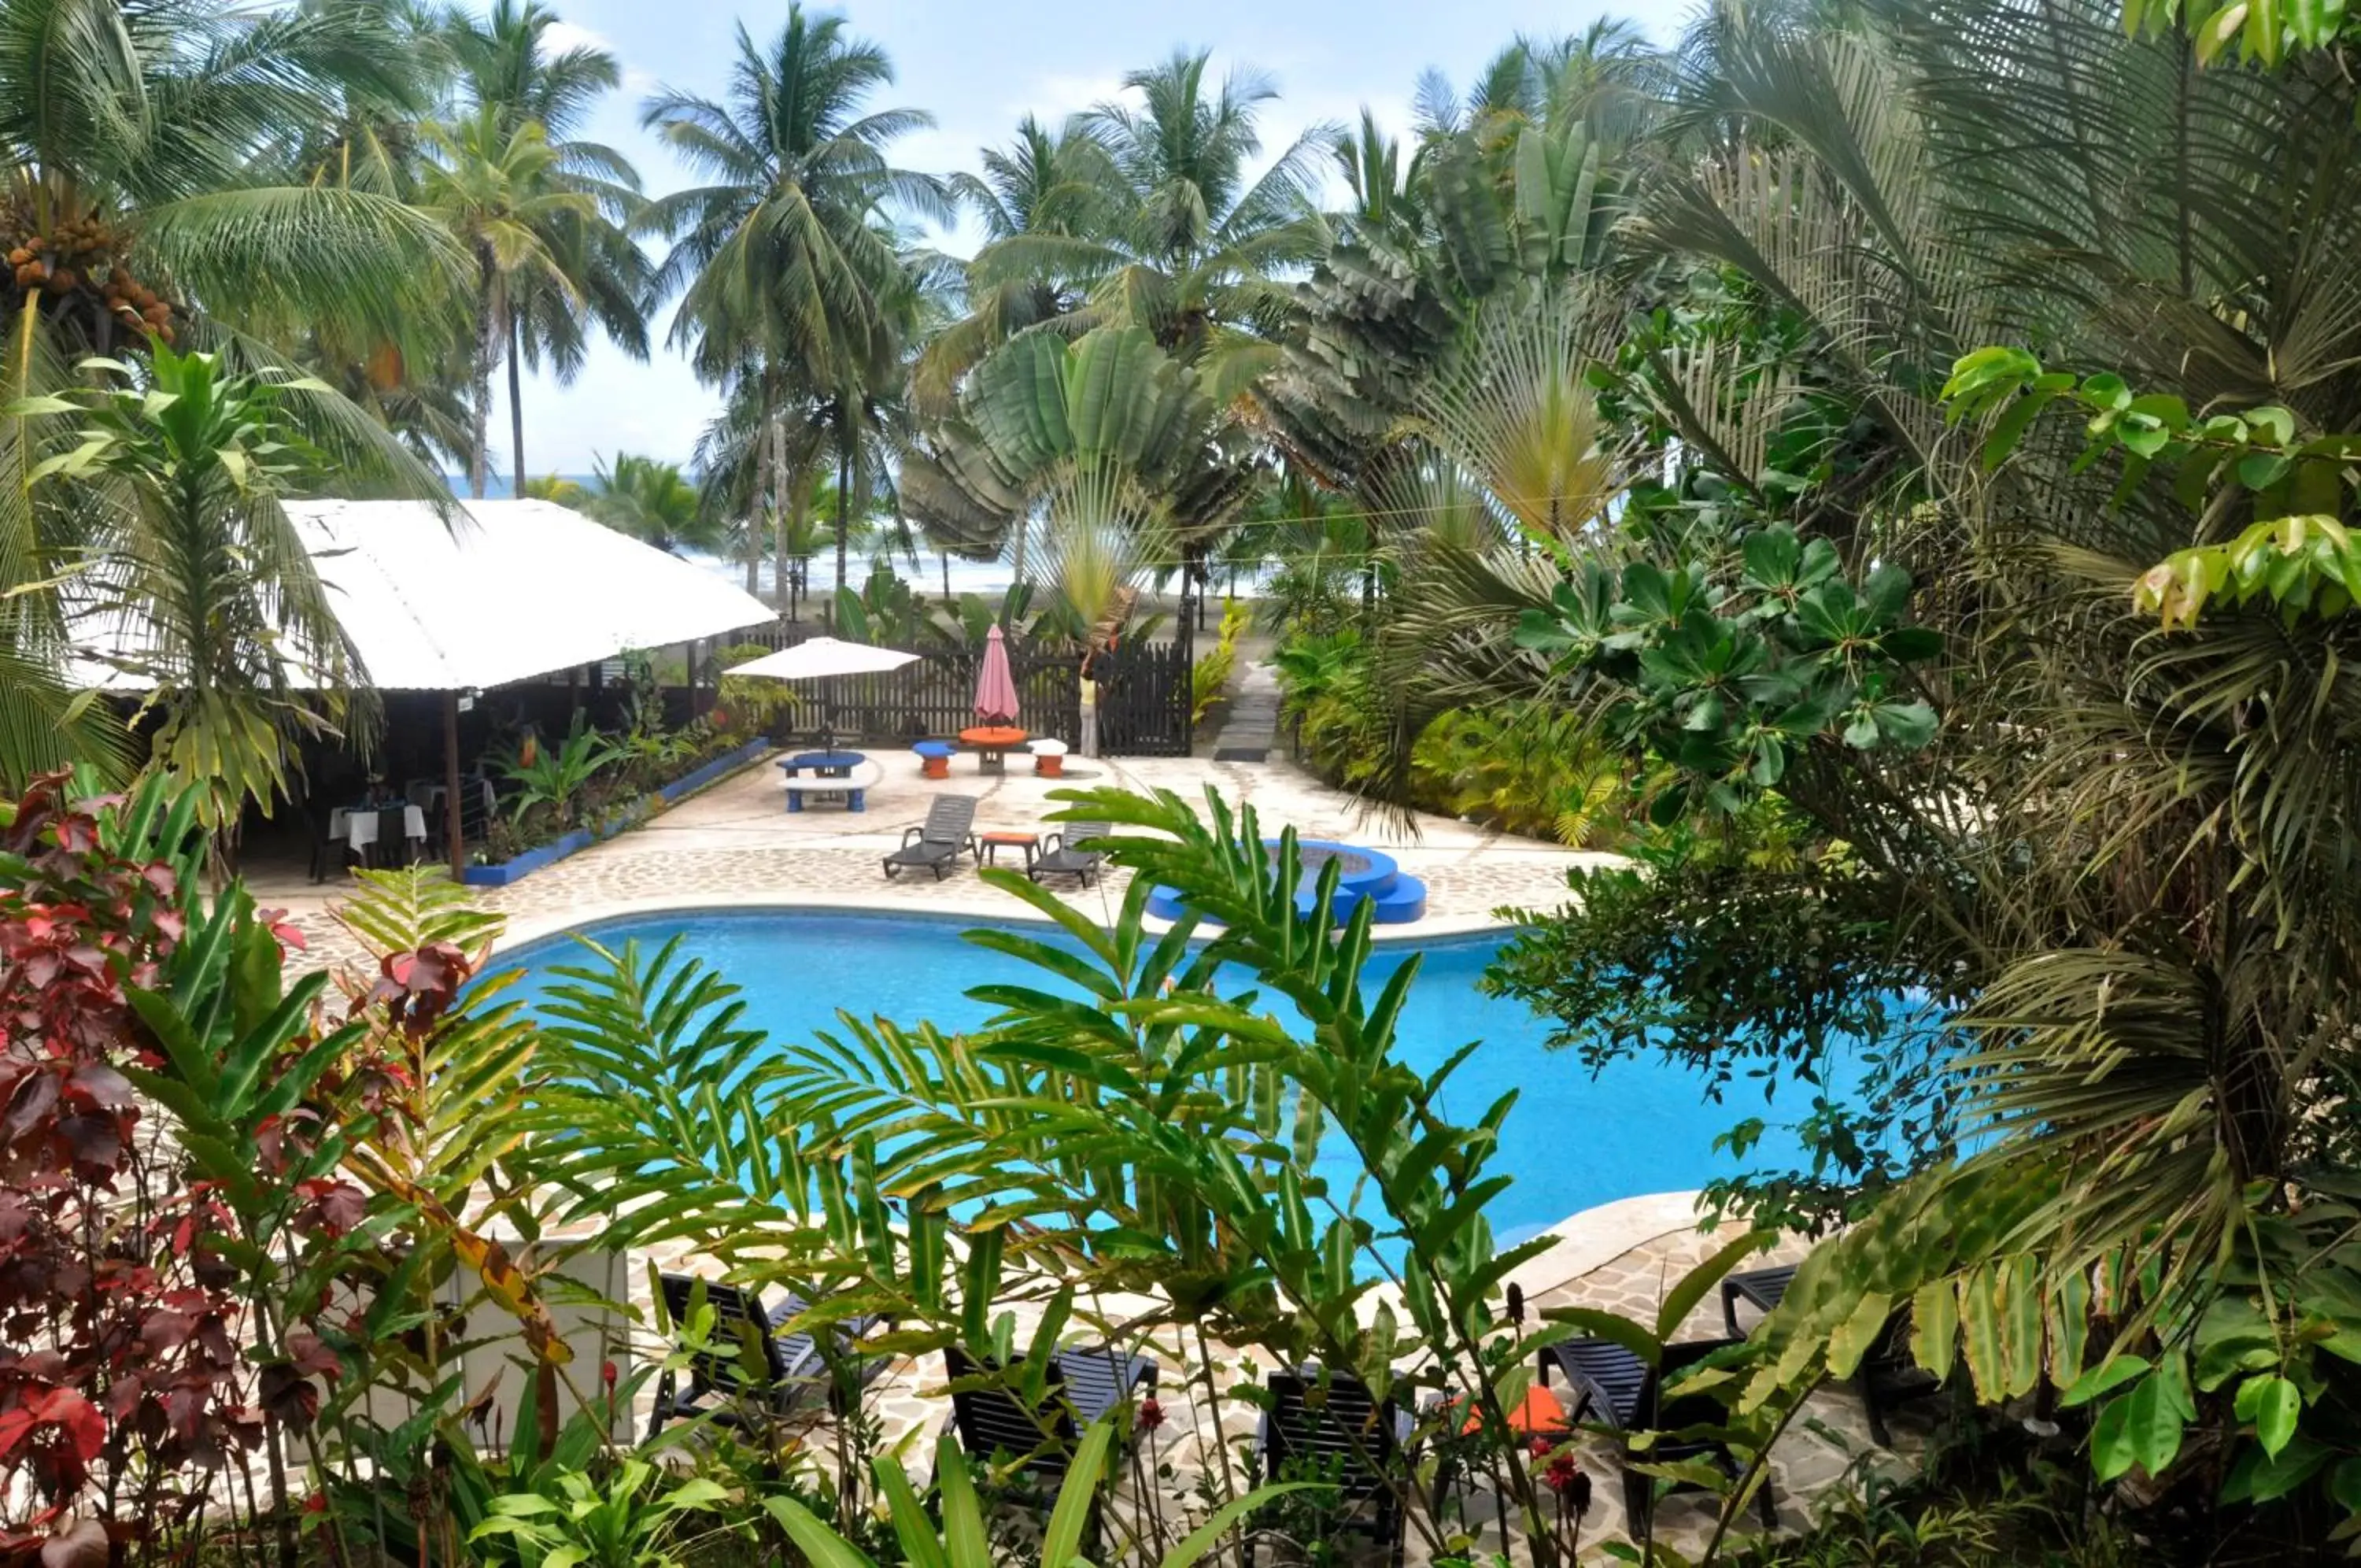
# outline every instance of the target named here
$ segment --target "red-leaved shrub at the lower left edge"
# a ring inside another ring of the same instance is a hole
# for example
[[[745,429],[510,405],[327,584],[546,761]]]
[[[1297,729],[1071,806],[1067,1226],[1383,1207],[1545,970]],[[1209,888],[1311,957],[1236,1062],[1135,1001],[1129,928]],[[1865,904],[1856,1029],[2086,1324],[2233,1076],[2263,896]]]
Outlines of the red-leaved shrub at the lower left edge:
[[[307,1327],[257,1322],[250,1200],[283,1174],[288,1235],[333,1240],[361,1193],[319,1169],[295,1105],[248,1124],[241,1190],[189,1181],[189,1129],[168,1136],[135,1089],[172,1074],[168,1039],[203,1034],[165,1023],[163,992],[194,975],[236,992],[224,1013],[276,1004],[300,942],[243,895],[203,914],[201,852],[161,784],[76,801],[54,775],[0,803],[0,1568],[97,1568],[215,1502],[253,1511],[243,1459],[335,1372]],[[272,1063],[321,1044],[290,1023]]]

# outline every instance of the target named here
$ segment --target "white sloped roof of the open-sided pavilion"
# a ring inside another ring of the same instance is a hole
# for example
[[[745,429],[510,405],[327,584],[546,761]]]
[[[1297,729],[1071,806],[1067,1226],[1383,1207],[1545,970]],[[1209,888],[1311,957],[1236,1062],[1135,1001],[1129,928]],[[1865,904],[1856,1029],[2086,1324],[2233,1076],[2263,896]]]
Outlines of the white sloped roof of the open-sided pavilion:
[[[366,685],[505,685],[777,614],[722,576],[552,501],[460,505],[465,515],[446,522],[418,501],[288,503]]]

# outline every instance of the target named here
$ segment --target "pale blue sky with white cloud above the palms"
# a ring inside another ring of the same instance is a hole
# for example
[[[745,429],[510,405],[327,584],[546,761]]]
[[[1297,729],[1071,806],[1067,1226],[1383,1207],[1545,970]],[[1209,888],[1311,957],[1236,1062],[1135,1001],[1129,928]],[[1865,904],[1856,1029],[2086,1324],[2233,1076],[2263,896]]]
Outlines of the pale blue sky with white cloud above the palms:
[[[715,0],[545,0],[564,21],[552,38],[597,43],[623,66],[578,135],[621,149],[652,194],[687,184],[687,172],[645,130],[640,102],[656,87],[722,97],[739,19],[767,40],[786,5]],[[1317,123],[1353,123],[1367,106],[1400,135],[1419,73],[1440,68],[1464,87],[1518,33],[1572,33],[1598,14],[1629,17],[1669,43],[1693,0],[843,0],[855,33],[892,54],[897,80],[871,106],[926,109],[935,128],[892,144],[902,168],[949,175],[973,170],[977,149],[1006,144],[1029,111],[1044,123],[1119,94],[1136,66],[1176,47],[1214,50],[1216,71],[1261,71],[1280,90],[1263,106],[1263,146],[1277,153]],[[815,5],[815,9],[829,9]],[[935,236],[970,253],[975,236]],[[604,340],[571,387],[548,375],[524,383],[524,456],[536,475],[590,472],[616,451],[687,465],[696,432],[718,399],[663,347],[671,302],[654,321],[649,361]],[[505,399],[505,390],[503,390]],[[505,401],[493,416],[505,442]],[[496,453],[508,470],[508,453]]]

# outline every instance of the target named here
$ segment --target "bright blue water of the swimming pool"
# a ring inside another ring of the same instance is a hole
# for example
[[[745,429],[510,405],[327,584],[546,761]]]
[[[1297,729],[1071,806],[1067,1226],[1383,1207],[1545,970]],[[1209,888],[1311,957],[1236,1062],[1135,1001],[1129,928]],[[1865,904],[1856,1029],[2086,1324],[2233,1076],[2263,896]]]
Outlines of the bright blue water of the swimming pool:
[[[1055,989],[1041,971],[966,942],[959,933],[970,926],[973,919],[758,909],[602,921],[583,935],[616,952],[628,940],[652,952],[687,933],[685,952],[744,989],[746,1025],[800,1044],[819,1030],[841,1037],[838,1008],[966,1030],[994,1011],[968,999],[968,987],[1001,980]],[[1492,1204],[1502,1244],[1617,1197],[1688,1190],[1716,1176],[1797,1162],[1797,1141],[1780,1122],[1809,1112],[1799,1086],[1766,1108],[1752,1089],[1709,1103],[1693,1070],[1655,1058],[1615,1063],[1591,1077],[1572,1056],[1542,1046],[1544,1020],[1523,1004],[1476,989],[1497,947],[1497,935],[1384,945],[1367,985],[1374,989],[1412,952],[1426,956],[1398,1030],[1398,1053],[1421,1072],[1471,1039],[1483,1041],[1450,1079],[1447,1117],[1476,1122],[1495,1098],[1518,1091],[1495,1159],[1497,1171],[1516,1176]],[[571,937],[550,937],[503,954],[493,968],[527,971],[519,992],[534,997],[550,985],[536,973],[541,966],[586,956]],[[1761,1143],[1742,1162],[1716,1155],[1714,1136],[1750,1115],[1773,1124]],[[1336,1162],[1329,1174],[1348,1178],[1348,1171]]]

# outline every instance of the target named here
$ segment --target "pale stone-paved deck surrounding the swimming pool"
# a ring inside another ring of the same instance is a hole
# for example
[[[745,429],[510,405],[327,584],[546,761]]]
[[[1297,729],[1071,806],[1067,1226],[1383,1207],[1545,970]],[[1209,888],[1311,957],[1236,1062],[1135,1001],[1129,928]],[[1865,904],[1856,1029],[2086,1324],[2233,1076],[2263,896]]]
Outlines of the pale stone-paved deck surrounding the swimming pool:
[[[1265,831],[1294,827],[1306,838],[1367,843],[1393,855],[1402,871],[1428,886],[1428,916],[1412,926],[1381,928],[1388,940],[1419,940],[1497,926],[1497,909],[1551,909],[1565,900],[1570,867],[1613,864],[1608,855],[1584,855],[1563,845],[1516,838],[1466,822],[1419,815],[1410,822],[1372,817],[1358,803],[1327,789],[1280,756],[1261,763],[1225,763],[1211,758],[1070,758],[1067,777],[1036,779],[1022,758],[1006,775],[977,772],[961,756],[951,777],[930,782],[918,763],[902,751],[871,751],[885,763],[885,779],[869,789],[866,812],[812,805],[784,810],[784,789],[774,758],[722,779],[704,793],[671,808],[654,822],[600,843],[512,888],[484,888],[482,904],[508,916],[505,945],[562,933],[609,916],[652,914],[663,909],[715,909],[748,904],[892,909],[970,916],[977,923],[1032,919],[1011,895],[980,881],[973,867],[961,867],[944,881],[904,874],[885,881],[881,857],[902,843],[902,829],[926,817],[937,793],[977,796],[975,827],[1041,829],[1058,810],[1048,798],[1060,786],[1119,784],[1126,789],[1169,789],[1202,805],[1204,789],[1216,786],[1232,805],[1251,803]],[[250,878],[255,897],[286,907],[312,942],[312,963],[349,963],[361,956],[328,916],[328,904],[349,893],[349,878],[314,886],[300,876]],[[1124,874],[1103,878],[1096,888],[1072,888],[1060,881],[1058,895],[1070,904],[1107,919],[1121,895]],[[1572,1067],[1570,1067],[1572,1070]],[[1598,1136],[1617,1136],[1601,1129]],[[1695,1195],[1669,1193],[1631,1197],[1575,1214],[1551,1230],[1554,1244],[1518,1270],[1532,1308],[1601,1306],[1653,1320],[1674,1280],[1702,1261],[1719,1240],[1698,1230]],[[1726,1240],[1726,1237],[1721,1237]],[[1804,1244],[1787,1240],[1773,1261],[1801,1256]],[[659,1249],[668,1268],[718,1275],[711,1259]],[[647,1278],[637,1263],[628,1270],[630,1294],[647,1306]],[[1721,1334],[1719,1294],[1683,1325],[1683,1339]],[[1183,1365],[1185,1346],[1173,1344],[1169,1367]],[[1235,1367],[1249,1372],[1244,1363]],[[1265,1372],[1256,1370],[1258,1372]],[[942,1367],[897,1363],[871,1389],[888,1445],[900,1448],[907,1464],[926,1471],[930,1448],[942,1426],[947,1400],[940,1393]],[[1164,1396],[1169,1426],[1157,1436],[1159,1457],[1192,1469],[1199,1445],[1209,1438],[1249,1436],[1237,1424],[1244,1407],[1225,1400],[1223,1426],[1202,1400],[1171,1389]],[[1870,1450],[1860,1405],[1849,1391],[1813,1396],[1806,1422],[1797,1422],[1773,1450],[1773,1485],[1783,1523],[1801,1523],[1809,1497],[1834,1483],[1844,1469]],[[1596,1507],[1584,1530],[1584,1556],[1605,1537],[1624,1533],[1617,1464],[1603,1438],[1582,1440],[1582,1464],[1596,1478]],[[1695,1549],[1709,1535],[1709,1514],[1695,1497],[1662,1504],[1660,1528],[1667,1540]],[[1487,1535],[1487,1547],[1499,1535]],[[1412,1544],[1410,1561],[1426,1551]]]

